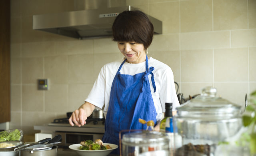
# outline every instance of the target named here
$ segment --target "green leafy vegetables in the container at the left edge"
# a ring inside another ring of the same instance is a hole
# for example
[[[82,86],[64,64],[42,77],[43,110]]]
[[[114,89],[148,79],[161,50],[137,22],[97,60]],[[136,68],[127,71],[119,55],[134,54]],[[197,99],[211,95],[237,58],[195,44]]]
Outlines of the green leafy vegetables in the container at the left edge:
[[[0,142],[3,141],[15,141],[20,140],[20,131],[15,129],[12,132],[2,131],[0,132]]]

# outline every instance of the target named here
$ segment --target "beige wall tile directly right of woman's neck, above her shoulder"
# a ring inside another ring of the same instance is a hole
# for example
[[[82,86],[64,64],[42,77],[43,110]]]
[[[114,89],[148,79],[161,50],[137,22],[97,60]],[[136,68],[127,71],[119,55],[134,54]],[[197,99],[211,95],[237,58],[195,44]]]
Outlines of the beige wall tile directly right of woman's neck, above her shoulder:
[[[180,51],[152,51],[149,54],[156,60],[170,66],[174,75],[174,81],[180,81]]]

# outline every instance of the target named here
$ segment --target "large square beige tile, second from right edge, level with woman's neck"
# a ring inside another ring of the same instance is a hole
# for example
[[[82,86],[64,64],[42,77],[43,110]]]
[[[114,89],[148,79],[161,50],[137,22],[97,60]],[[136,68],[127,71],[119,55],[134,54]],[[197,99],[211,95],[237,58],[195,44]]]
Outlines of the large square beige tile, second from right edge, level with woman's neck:
[[[214,81],[248,81],[247,48],[214,49]]]

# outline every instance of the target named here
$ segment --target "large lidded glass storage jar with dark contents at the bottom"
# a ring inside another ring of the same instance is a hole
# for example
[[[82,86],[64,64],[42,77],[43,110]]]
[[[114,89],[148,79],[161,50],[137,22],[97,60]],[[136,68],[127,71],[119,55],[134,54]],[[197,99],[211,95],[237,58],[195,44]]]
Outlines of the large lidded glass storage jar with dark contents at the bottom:
[[[215,156],[218,145],[232,140],[242,128],[241,106],[216,97],[216,92],[205,87],[200,96],[177,108],[175,156]]]

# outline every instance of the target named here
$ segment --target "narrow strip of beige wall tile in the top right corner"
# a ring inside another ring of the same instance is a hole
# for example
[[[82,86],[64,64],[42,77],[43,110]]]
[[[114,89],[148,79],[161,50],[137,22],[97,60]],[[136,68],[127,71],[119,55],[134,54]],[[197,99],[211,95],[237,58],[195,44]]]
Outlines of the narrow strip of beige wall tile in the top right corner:
[[[256,28],[256,1],[248,0],[249,29]]]

